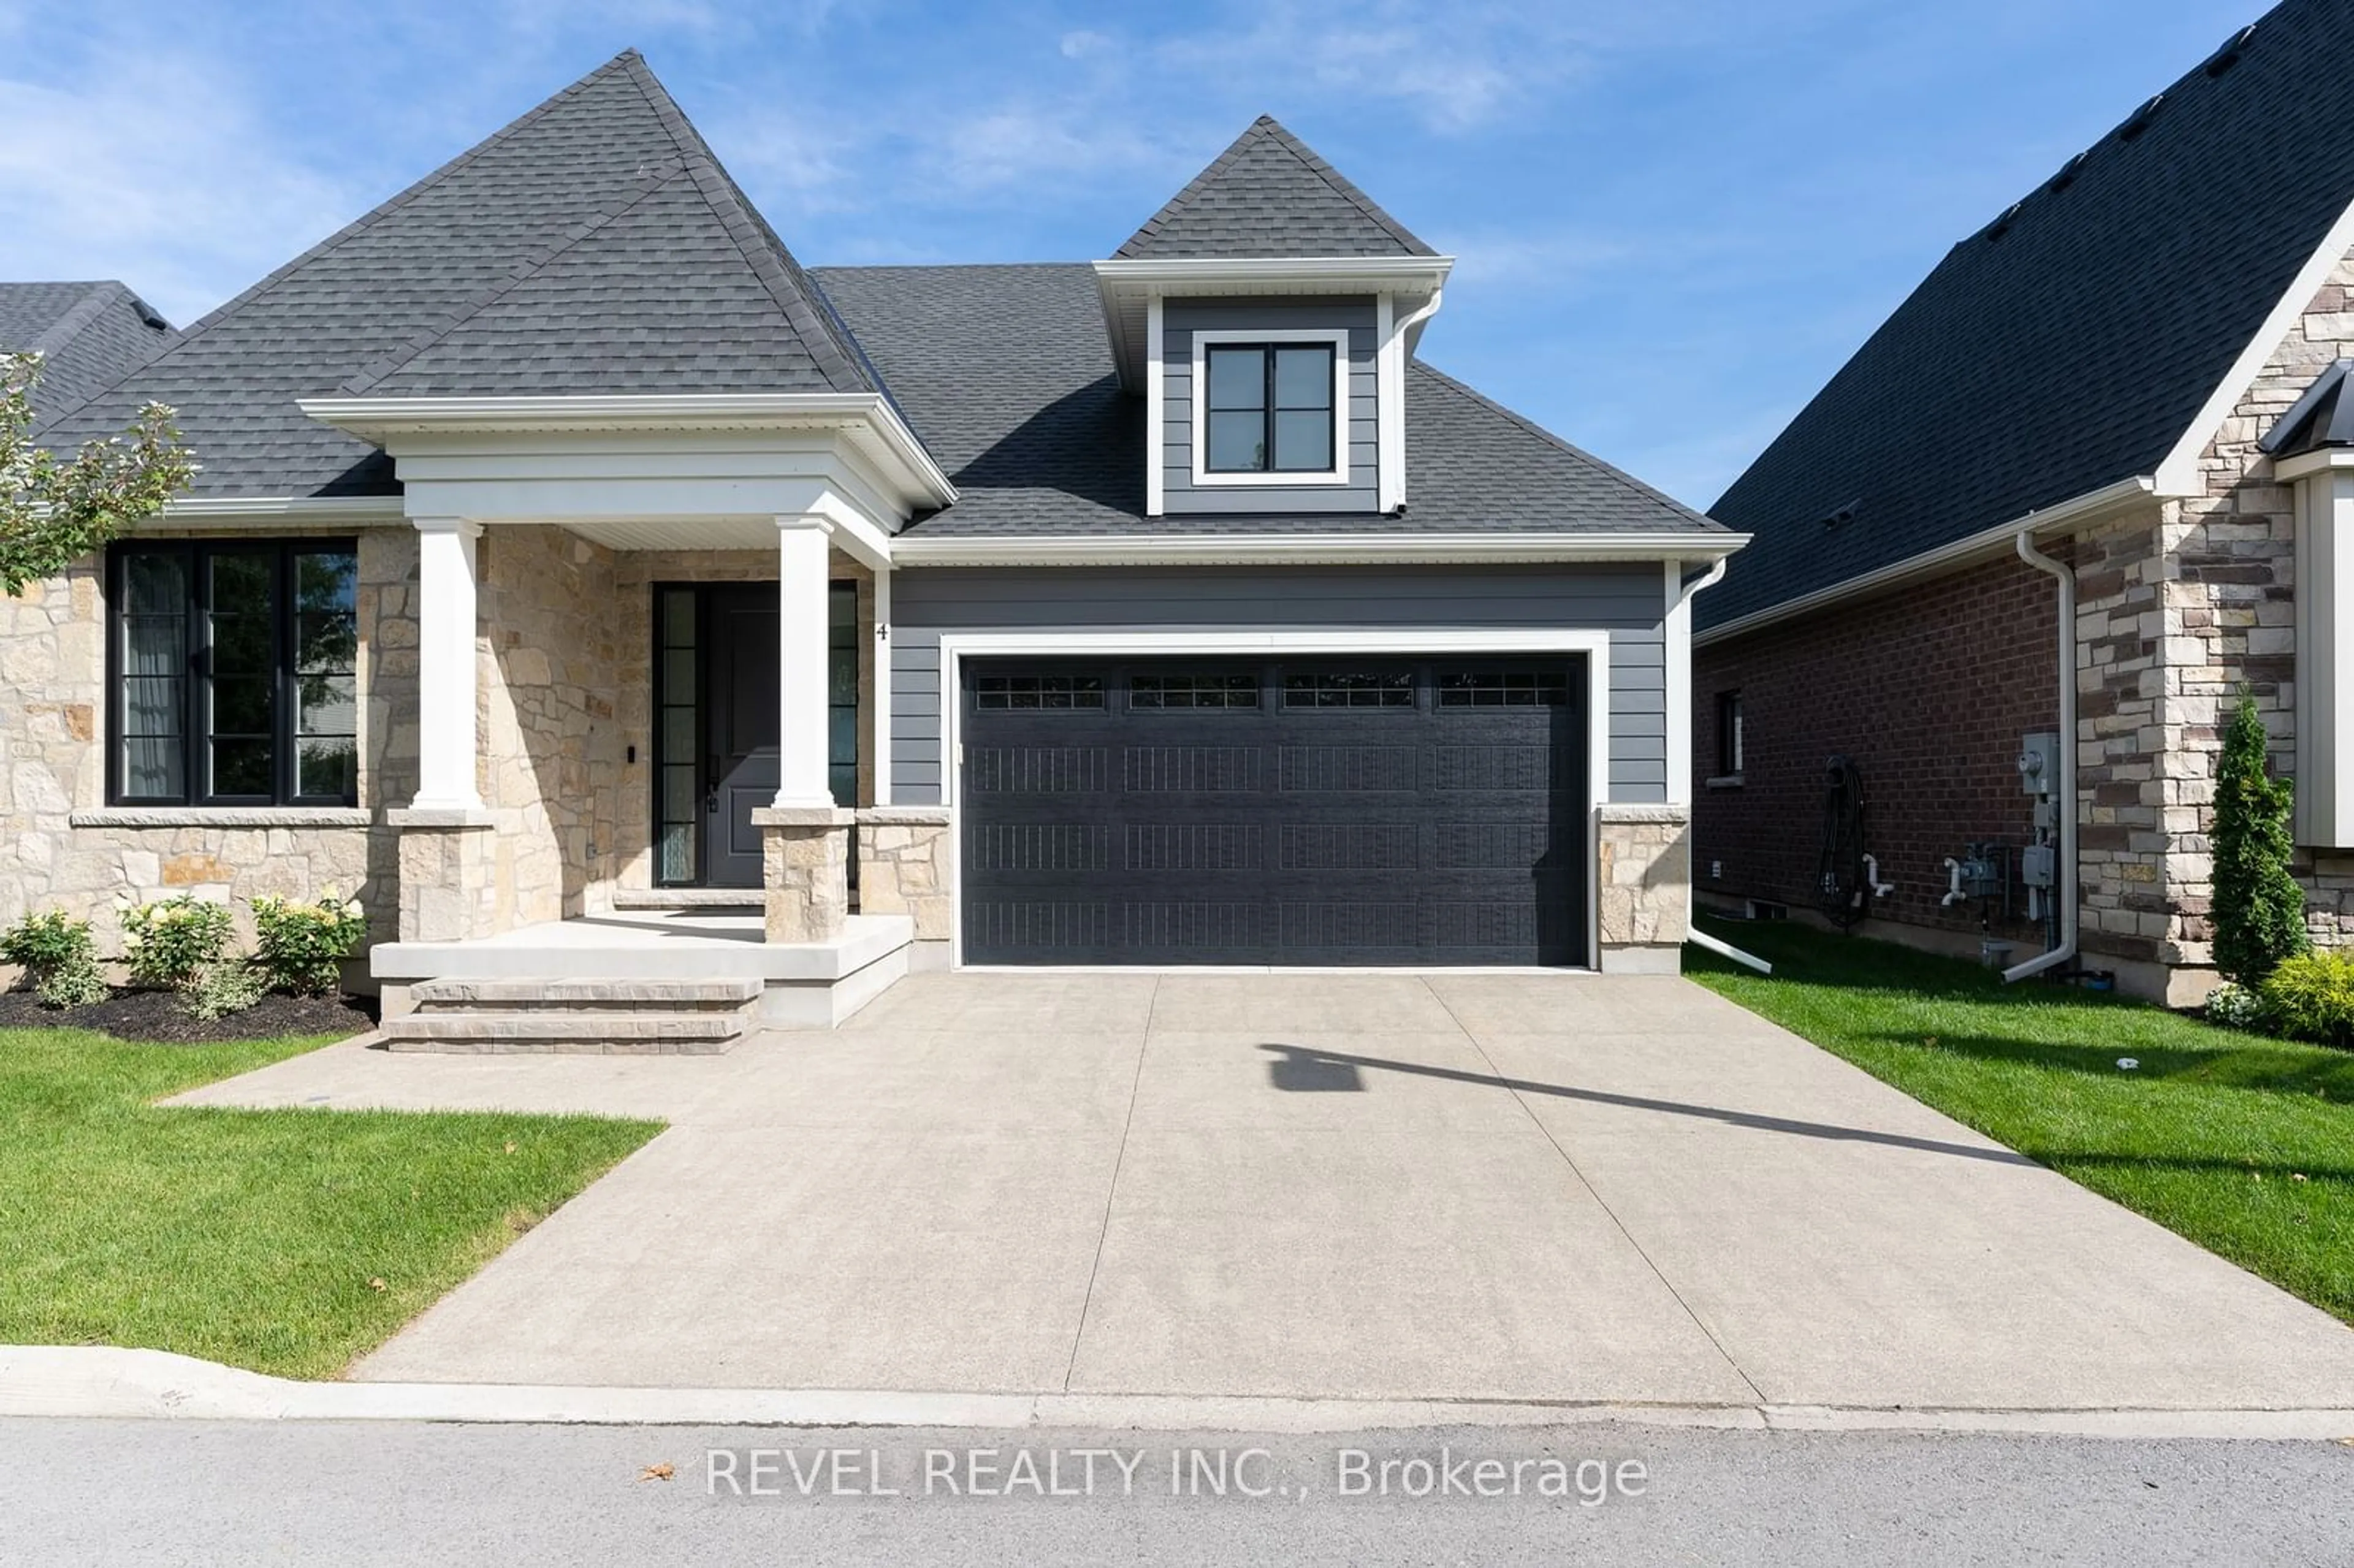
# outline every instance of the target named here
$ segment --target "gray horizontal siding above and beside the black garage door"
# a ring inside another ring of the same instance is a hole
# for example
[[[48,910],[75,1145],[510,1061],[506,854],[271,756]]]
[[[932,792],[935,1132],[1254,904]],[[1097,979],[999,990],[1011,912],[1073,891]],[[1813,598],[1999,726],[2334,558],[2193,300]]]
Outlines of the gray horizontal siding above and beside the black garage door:
[[[1667,800],[1664,584],[1589,567],[911,567],[892,574],[892,800],[942,784],[944,631],[1542,626],[1610,633],[1610,800]]]

